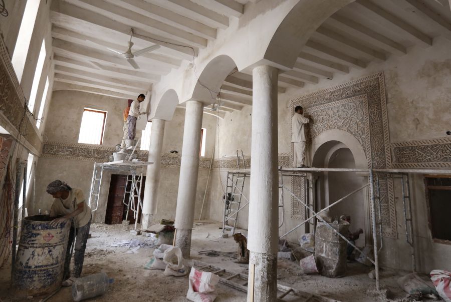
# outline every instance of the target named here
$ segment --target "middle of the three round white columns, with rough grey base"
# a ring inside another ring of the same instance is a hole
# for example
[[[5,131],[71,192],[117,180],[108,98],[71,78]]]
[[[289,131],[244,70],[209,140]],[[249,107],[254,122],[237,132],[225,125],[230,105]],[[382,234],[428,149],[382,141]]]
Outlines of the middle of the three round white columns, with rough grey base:
[[[202,114],[203,104],[201,102],[186,102],[180,178],[178,181],[177,208],[175,212],[175,246],[180,247],[185,259],[189,258],[191,249],[191,229],[194,221],[200,159]]]

